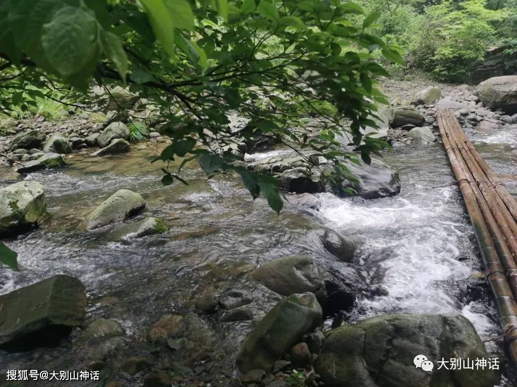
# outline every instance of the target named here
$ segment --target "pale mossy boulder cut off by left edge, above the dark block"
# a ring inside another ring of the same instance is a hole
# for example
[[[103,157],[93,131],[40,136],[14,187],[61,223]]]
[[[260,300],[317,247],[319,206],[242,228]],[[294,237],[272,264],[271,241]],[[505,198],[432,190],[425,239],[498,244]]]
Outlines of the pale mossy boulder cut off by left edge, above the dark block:
[[[0,234],[37,225],[47,215],[40,183],[25,181],[0,189]]]

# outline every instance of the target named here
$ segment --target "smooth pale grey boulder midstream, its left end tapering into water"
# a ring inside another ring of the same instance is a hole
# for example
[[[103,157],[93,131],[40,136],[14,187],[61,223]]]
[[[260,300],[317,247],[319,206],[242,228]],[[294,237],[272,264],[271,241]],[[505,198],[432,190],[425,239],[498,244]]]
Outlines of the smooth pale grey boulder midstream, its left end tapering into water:
[[[93,230],[121,222],[140,212],[146,203],[139,193],[119,189],[104,200],[86,219],[86,229]]]

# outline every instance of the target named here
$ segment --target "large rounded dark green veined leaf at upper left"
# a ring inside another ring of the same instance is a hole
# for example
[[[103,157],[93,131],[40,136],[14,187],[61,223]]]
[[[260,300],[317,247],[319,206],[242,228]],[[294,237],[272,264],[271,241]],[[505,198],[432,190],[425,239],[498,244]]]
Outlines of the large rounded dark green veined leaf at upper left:
[[[41,42],[50,65],[63,77],[83,68],[99,51],[99,24],[92,11],[63,7],[43,26]]]

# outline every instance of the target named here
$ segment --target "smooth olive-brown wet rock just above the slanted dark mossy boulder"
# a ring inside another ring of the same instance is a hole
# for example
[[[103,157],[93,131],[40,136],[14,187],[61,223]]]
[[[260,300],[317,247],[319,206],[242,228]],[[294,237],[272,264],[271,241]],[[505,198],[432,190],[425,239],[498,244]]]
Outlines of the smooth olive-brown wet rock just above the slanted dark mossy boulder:
[[[251,277],[282,296],[317,292],[323,286],[320,272],[310,256],[286,256],[258,267]]]

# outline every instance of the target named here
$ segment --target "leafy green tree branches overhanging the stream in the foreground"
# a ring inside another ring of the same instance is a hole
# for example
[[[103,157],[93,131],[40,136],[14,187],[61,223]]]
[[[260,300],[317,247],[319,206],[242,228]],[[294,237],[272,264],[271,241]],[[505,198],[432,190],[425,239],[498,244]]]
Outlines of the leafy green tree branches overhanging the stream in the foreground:
[[[241,136],[326,157],[334,170],[324,178],[339,184],[356,156],[338,138],[350,136],[367,162],[383,146],[361,135],[375,126],[375,104],[386,103],[374,78],[388,74],[372,53],[401,63],[371,33],[378,17],[340,0],[8,0],[0,3],[3,108],[78,99],[92,77],[102,87],[128,84],[170,122],[173,142],[159,159],[238,174],[280,211],[276,181],[235,163],[229,114],[249,120]],[[164,184],[183,181],[166,166]]]

